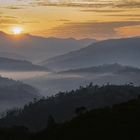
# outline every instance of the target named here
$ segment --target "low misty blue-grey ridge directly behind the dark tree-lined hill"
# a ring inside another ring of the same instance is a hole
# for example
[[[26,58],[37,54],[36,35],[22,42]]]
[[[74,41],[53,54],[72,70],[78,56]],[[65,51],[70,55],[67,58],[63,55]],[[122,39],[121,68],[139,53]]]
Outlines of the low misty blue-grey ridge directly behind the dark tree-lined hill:
[[[59,91],[70,91],[90,82],[97,85],[107,83],[140,85],[140,68],[117,63],[104,64],[57,73],[52,72],[43,76],[25,79],[24,82],[39,88],[44,96],[54,95]]]

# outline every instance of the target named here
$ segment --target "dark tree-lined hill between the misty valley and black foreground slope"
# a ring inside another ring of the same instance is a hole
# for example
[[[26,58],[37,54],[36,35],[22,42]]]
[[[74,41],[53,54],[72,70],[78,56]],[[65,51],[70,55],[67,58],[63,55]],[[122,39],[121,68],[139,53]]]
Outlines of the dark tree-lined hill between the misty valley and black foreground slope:
[[[0,126],[24,125],[31,130],[40,130],[47,126],[50,115],[57,122],[61,122],[74,117],[75,109],[81,106],[87,109],[103,108],[135,99],[139,95],[140,87],[132,85],[98,87],[90,84],[75,91],[60,92],[55,97],[30,103],[23,110],[1,119]]]

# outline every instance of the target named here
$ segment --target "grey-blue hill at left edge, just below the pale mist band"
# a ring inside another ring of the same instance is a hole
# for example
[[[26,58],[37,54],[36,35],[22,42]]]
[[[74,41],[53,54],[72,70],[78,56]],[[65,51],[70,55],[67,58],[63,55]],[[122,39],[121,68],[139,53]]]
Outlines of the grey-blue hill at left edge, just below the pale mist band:
[[[39,92],[34,87],[19,81],[0,77],[0,112],[20,107],[39,98]]]

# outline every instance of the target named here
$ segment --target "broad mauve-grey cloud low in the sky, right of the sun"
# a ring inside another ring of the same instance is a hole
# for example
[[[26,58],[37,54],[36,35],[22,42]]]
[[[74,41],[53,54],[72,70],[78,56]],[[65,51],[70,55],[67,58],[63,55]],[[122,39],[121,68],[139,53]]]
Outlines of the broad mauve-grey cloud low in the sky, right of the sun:
[[[120,37],[119,28],[128,26],[140,25],[140,21],[118,21],[118,22],[80,22],[80,23],[65,23],[55,27],[46,34],[59,37],[77,38],[116,38]]]

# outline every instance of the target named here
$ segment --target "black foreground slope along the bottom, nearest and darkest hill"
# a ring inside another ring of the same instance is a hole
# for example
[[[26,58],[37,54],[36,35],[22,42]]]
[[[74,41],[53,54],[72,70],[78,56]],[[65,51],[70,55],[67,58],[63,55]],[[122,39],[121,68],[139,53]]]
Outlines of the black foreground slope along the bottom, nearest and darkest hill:
[[[34,117],[34,116],[33,116]],[[38,120],[39,121],[39,120]],[[4,140],[139,140],[140,98],[102,109],[86,110],[64,123],[50,117],[46,129],[30,133],[26,127],[1,128]]]

